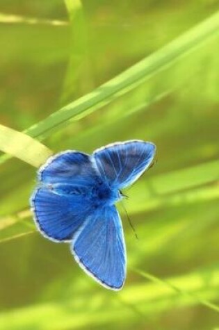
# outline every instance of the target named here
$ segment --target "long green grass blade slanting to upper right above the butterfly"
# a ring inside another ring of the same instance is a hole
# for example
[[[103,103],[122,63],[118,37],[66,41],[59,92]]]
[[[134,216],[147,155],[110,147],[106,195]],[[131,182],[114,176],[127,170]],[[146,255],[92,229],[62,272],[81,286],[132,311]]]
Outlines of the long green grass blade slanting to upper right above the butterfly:
[[[66,126],[73,119],[79,119],[94,110],[102,108],[106,104],[120,97],[122,94],[133,90],[136,86],[147,81],[161,70],[174,64],[191,51],[197,49],[209,38],[219,33],[219,13],[212,15],[201,24],[184,33],[176,40],[170,42],[159,51],[147,56],[133,67],[119,74],[99,88],[85,96],[64,106],[55,113],[49,115],[42,122],[38,122],[25,131],[33,138],[42,140],[51,132]],[[4,159],[3,159],[4,160]],[[1,159],[1,162],[3,162]]]

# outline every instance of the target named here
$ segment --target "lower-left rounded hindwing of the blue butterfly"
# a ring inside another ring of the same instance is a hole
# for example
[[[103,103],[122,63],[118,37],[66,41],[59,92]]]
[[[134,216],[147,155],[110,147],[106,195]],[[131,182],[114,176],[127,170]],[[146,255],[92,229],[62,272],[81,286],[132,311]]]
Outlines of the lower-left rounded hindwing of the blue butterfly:
[[[33,192],[31,208],[39,231],[56,242],[70,241],[91,210],[81,195],[68,196],[47,186]]]

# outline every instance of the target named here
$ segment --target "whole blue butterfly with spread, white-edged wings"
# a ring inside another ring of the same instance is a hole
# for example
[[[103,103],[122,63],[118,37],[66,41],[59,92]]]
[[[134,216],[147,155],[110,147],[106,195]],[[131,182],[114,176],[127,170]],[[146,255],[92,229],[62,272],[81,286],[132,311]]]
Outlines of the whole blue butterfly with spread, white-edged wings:
[[[127,256],[115,203],[121,190],[152,164],[156,147],[130,140],[102,147],[92,155],[67,150],[38,170],[31,210],[42,235],[70,242],[81,268],[108,289],[120,290]]]

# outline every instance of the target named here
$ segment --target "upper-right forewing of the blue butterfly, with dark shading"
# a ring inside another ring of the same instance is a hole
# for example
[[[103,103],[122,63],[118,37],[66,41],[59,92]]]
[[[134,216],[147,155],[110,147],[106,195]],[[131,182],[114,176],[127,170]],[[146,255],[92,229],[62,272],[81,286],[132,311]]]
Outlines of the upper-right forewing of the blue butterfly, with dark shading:
[[[111,187],[122,189],[135,182],[152,164],[156,147],[151,142],[117,142],[93,153],[102,179]]]

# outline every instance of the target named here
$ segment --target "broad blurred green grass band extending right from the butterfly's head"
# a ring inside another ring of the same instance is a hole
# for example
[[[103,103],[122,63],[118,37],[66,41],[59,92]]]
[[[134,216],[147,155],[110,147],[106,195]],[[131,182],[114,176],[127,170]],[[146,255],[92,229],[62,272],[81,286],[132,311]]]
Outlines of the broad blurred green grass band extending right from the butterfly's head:
[[[218,199],[219,160],[212,160],[182,170],[159,174],[141,180],[127,194],[127,211],[138,213],[161,206],[179,206],[197,201]],[[205,187],[204,185],[211,186]],[[200,188],[202,186],[202,188]],[[194,189],[195,188],[195,189]]]

